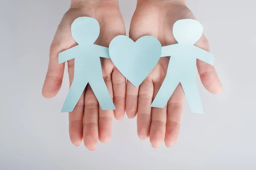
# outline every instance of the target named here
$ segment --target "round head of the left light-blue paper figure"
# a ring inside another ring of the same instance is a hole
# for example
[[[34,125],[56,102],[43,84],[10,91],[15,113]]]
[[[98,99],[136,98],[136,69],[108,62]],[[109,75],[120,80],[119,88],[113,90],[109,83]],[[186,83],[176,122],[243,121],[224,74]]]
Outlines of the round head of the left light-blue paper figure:
[[[71,25],[73,39],[78,44],[93,44],[99,37],[99,23],[91,17],[79,17]]]

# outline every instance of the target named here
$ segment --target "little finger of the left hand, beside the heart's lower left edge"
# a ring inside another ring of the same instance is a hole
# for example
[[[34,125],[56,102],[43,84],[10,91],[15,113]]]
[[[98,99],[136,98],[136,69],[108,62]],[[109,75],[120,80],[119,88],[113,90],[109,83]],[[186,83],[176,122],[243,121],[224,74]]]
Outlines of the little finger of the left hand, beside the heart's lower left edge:
[[[112,83],[114,105],[116,106],[114,116],[117,120],[122,120],[125,116],[126,79],[117,68],[113,69]]]

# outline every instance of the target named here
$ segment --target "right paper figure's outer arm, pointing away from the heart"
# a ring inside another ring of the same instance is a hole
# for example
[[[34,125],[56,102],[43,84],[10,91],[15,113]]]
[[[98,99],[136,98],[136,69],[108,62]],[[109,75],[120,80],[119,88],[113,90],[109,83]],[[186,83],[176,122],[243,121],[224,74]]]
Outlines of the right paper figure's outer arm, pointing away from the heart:
[[[199,48],[195,45],[193,45],[193,48],[192,48],[193,52],[196,56],[197,59],[200,59],[210,65],[213,65],[213,59],[214,59],[214,55],[209,53],[208,51],[206,50],[203,50],[202,48]]]

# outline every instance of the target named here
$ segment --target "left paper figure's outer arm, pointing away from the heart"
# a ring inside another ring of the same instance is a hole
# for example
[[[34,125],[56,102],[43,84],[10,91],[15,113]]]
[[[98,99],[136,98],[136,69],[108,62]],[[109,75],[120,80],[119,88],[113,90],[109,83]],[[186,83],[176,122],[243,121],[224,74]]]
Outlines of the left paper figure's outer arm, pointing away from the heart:
[[[62,62],[66,62],[67,60],[70,60],[70,59],[78,57],[79,54],[80,54],[79,48],[80,48],[79,45],[76,45],[73,48],[70,48],[70,49],[68,49],[66,51],[63,51],[63,52],[59,53],[58,54],[59,64],[61,64]]]

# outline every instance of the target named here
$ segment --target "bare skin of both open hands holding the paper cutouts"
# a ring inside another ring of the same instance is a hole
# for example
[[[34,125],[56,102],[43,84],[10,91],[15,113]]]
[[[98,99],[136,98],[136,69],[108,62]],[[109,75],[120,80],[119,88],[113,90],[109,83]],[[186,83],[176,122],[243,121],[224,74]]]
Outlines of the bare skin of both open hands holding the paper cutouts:
[[[64,14],[50,47],[50,58],[42,94],[46,98],[55,96],[61,88],[64,64],[58,64],[58,53],[77,45],[70,33],[70,26],[77,17],[87,16],[98,20],[101,27],[96,44],[108,47],[117,35],[125,35],[125,26],[119,12],[117,0],[72,0],[70,9]],[[144,35],[152,35],[162,46],[177,43],[172,35],[173,24],[180,19],[195,19],[183,0],[138,0],[129,36],[136,41]],[[209,51],[207,39],[202,36],[195,44]],[[171,147],[177,141],[183,108],[184,93],[178,85],[166,107],[151,108],[151,102],[166,76],[169,58],[162,57],[153,71],[135,88],[115,68],[110,59],[102,59],[102,73],[108,91],[113,97],[116,111],[102,111],[88,85],[76,108],[69,113],[70,140],[76,146],[84,140],[89,150],[98,143],[109,142],[112,132],[113,113],[122,120],[137,115],[137,133],[140,139],[150,138],[153,147],[165,141]],[[67,62],[70,85],[74,76],[74,59]],[[198,72],[205,88],[213,94],[221,93],[221,82],[215,68],[200,60]]]

